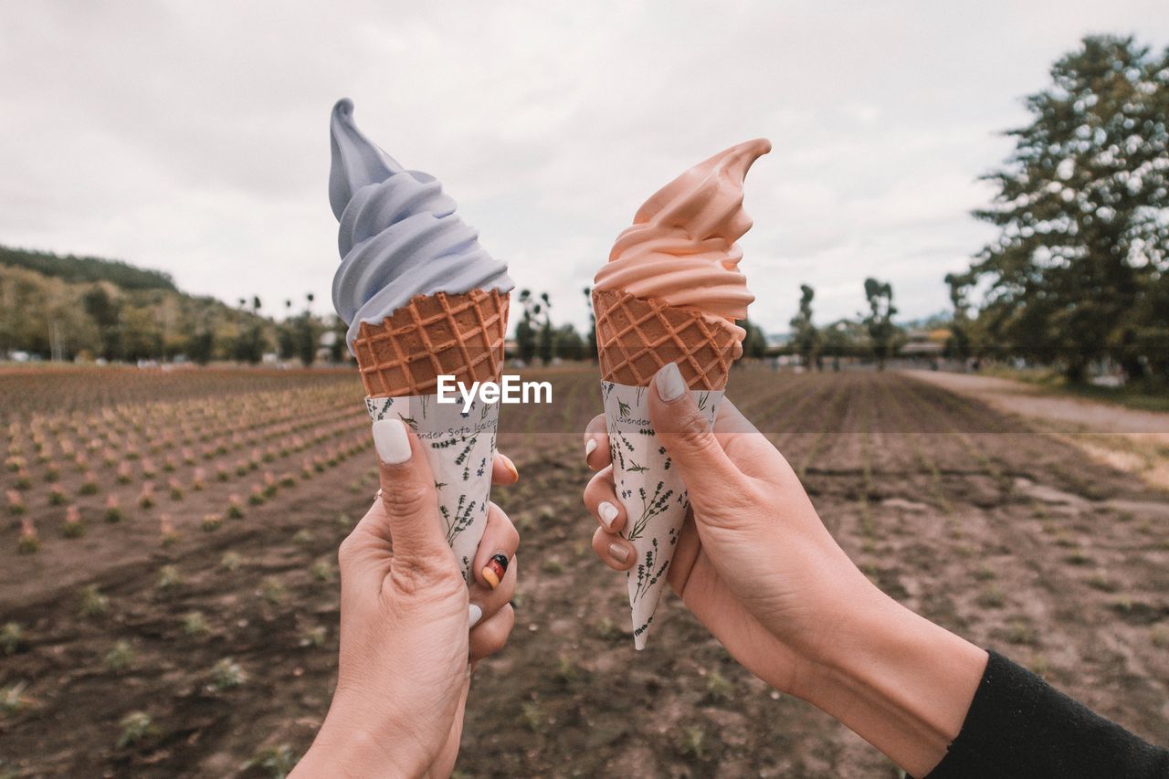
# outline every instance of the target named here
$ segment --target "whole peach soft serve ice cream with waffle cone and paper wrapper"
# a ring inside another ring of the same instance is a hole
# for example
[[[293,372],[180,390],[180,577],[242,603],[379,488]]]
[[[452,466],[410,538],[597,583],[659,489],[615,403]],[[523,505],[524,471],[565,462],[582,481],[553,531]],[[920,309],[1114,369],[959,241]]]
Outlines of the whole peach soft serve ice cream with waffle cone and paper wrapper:
[[[742,354],[754,296],[735,241],[750,228],[742,182],[770,150],[765,138],[714,154],[658,189],[621,232],[596,274],[593,309],[602,399],[622,535],[637,553],[629,571],[634,644],[645,647],[690,502],[649,418],[653,375],[677,364],[707,425],[731,364]]]

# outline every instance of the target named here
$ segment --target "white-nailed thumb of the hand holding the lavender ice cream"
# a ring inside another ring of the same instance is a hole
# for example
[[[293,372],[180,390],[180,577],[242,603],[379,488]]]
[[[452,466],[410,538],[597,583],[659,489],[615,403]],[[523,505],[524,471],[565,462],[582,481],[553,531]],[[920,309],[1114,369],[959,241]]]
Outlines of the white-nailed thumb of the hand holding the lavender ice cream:
[[[385,530],[393,543],[394,559],[454,561],[438,516],[434,474],[417,436],[401,420],[382,419],[373,423],[373,443],[380,461]]]

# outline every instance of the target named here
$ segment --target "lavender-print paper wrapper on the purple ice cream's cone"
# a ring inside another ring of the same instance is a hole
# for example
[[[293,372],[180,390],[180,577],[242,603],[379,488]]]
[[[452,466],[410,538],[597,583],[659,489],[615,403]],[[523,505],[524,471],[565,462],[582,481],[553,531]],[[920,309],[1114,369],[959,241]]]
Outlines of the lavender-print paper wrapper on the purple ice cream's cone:
[[[476,398],[464,413],[462,399],[440,404],[434,394],[366,398],[366,408],[375,422],[382,419],[406,422],[422,442],[434,471],[447,543],[470,585],[471,561],[487,525],[499,404]]]

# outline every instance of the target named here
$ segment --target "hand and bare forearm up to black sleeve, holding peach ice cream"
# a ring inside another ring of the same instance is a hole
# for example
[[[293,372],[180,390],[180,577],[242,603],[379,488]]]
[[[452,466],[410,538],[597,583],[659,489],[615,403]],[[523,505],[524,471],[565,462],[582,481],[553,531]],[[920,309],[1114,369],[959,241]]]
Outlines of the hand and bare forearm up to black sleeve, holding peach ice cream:
[[[670,586],[748,670],[832,715],[914,775],[957,736],[987,653],[873,586],[832,539],[783,456],[726,399],[713,430],[677,366],[646,393],[653,429],[686,484],[690,515]],[[586,432],[599,473],[584,503],[593,549],[628,571],[604,418]]]

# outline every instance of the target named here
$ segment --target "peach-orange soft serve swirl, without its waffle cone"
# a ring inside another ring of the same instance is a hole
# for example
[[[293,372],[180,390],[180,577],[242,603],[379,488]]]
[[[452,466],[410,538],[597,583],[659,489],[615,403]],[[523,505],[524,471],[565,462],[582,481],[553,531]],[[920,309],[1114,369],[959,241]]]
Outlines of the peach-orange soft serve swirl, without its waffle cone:
[[[738,267],[735,241],[752,226],[742,185],[752,163],[770,150],[766,138],[741,143],[658,189],[617,236],[594,289],[698,309],[734,333],[738,358],[746,333],[734,322],[747,318],[755,299]]]

